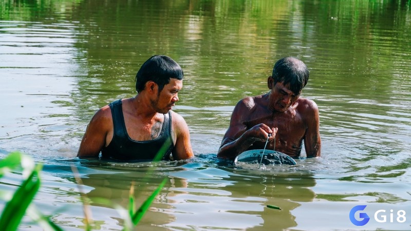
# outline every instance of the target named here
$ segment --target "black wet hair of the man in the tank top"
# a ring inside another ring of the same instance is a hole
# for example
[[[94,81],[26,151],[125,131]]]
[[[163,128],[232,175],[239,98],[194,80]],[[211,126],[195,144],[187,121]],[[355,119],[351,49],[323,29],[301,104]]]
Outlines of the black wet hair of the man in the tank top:
[[[183,70],[171,57],[166,55],[153,55],[141,65],[136,75],[136,90],[140,93],[144,90],[145,83],[153,81],[158,85],[158,93],[165,85],[170,83],[170,79],[182,80]]]

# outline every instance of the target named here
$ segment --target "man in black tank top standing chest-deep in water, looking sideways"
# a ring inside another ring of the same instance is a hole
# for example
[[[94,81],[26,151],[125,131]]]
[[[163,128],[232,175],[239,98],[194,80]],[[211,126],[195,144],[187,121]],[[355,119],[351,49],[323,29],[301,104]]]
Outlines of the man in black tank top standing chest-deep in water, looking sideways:
[[[100,108],[80,143],[78,157],[117,161],[192,158],[190,133],[172,111],[182,88],[183,71],[170,57],[154,55],[137,72],[137,95]]]

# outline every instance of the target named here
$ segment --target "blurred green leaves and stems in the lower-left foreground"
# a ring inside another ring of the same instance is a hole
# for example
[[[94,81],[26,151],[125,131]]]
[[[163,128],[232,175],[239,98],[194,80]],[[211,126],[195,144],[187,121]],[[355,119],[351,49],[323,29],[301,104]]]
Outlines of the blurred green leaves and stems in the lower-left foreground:
[[[37,222],[44,230],[63,230],[57,224],[54,224],[48,217],[44,216],[40,210],[35,207],[34,203],[32,203],[36,193],[41,187],[40,172],[42,167],[41,164],[35,164],[31,157],[23,155],[20,152],[12,152],[5,159],[0,160],[0,178],[14,169],[22,170],[24,177],[23,183],[15,190],[13,195],[7,193],[1,195],[2,199],[8,201],[3,209],[2,216],[0,217],[1,230],[17,230],[18,225],[25,214],[27,214],[33,221]],[[131,230],[133,225],[135,226],[139,223],[165,182],[166,179],[160,183],[157,189],[137,210],[134,203],[134,186],[132,185],[130,188],[128,213],[122,213],[125,209],[117,208],[120,215],[124,214],[123,219],[125,225],[123,230]],[[86,215],[85,230],[91,230],[91,219],[87,217],[89,214],[86,213],[86,200],[83,197],[84,196],[82,195]],[[131,223],[133,225],[131,225]]]

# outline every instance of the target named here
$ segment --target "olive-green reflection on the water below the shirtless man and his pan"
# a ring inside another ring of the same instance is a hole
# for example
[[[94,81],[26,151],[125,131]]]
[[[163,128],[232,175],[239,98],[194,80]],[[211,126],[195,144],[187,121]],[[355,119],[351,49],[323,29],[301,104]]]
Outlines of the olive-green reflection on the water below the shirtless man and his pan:
[[[300,206],[298,202],[312,201],[315,198],[315,193],[310,189],[315,185],[315,180],[310,175],[241,175],[230,176],[230,181],[236,182],[225,187],[232,192],[230,198],[247,202],[253,198],[254,202],[242,211],[230,212],[256,215],[263,219],[262,224],[255,224],[250,230],[270,230],[274,227],[282,230],[294,227],[297,223],[291,211]],[[267,205],[279,206],[282,210],[267,208]]]

